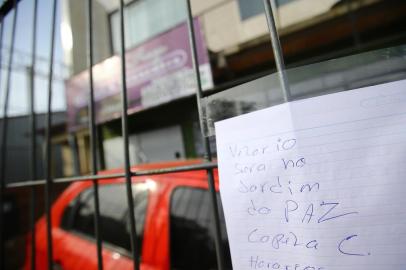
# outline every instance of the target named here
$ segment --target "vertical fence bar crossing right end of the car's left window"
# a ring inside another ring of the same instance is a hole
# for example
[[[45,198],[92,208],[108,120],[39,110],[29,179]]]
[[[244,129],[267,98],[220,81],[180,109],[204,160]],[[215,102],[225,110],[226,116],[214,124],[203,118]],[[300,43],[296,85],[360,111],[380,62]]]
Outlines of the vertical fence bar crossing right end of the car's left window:
[[[137,234],[135,229],[134,215],[134,197],[131,185],[130,171],[130,153],[128,149],[128,118],[127,118],[127,83],[126,83],[126,68],[125,68],[125,36],[124,36],[124,1],[120,0],[120,54],[121,54],[121,102],[122,102],[122,133],[124,142],[124,165],[125,165],[125,180],[128,201],[128,213],[130,219],[130,238],[131,250],[133,256],[133,265],[135,270],[140,269],[139,249],[137,242]]]

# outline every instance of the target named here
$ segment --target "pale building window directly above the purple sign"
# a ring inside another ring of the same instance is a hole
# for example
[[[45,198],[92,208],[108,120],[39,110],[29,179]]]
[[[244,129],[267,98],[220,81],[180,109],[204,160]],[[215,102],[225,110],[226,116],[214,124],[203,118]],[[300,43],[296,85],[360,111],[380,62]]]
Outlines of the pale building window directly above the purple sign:
[[[125,7],[125,48],[163,33],[186,20],[184,0],[136,0]],[[113,52],[120,49],[119,12],[110,15]]]

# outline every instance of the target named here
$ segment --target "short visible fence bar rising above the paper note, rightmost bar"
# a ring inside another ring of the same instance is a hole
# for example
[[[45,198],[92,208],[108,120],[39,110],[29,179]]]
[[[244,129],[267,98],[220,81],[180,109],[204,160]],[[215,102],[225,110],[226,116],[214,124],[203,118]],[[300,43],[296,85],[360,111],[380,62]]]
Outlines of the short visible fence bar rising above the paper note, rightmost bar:
[[[281,49],[281,43],[278,36],[278,31],[276,30],[275,18],[272,12],[272,6],[270,0],[263,0],[266,21],[268,23],[269,34],[271,36],[273,55],[276,63],[276,70],[278,71],[279,80],[281,82],[283,99],[285,102],[291,100],[290,88],[288,79],[285,73],[285,62],[283,61],[283,52]]]

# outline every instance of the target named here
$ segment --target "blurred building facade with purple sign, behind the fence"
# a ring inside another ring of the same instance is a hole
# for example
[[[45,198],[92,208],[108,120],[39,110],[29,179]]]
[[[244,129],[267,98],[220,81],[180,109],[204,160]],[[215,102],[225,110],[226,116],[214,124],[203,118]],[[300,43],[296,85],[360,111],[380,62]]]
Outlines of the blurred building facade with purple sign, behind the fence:
[[[401,46],[406,40],[404,1],[270,2],[289,68]],[[90,169],[87,3],[81,0],[62,3],[62,44],[65,62],[71,67],[71,77],[66,82],[67,122],[70,137],[78,145],[76,154],[75,151],[66,154],[65,163],[72,166],[74,163],[69,160],[75,156],[80,172],[85,173]],[[265,75],[275,71],[275,61],[263,1],[192,0],[191,5],[204,90],[230,88],[258,77],[262,78],[248,85],[259,84],[253,87],[266,88],[269,78]],[[98,0],[94,1],[93,8],[99,163],[101,168],[115,168],[123,165],[119,158],[123,143],[119,120],[118,2]],[[195,158],[203,153],[185,19],[184,0],[126,2],[126,75],[133,164]],[[310,72],[311,68],[308,70]],[[329,76],[335,78],[342,74],[343,70],[336,70]],[[368,76],[357,74],[360,78],[370,77],[370,73]],[[306,85],[312,84],[307,82]],[[307,86],[302,88],[309,88]],[[220,107],[208,106],[208,113],[213,119],[220,119],[255,109],[258,100],[267,98],[257,96],[250,101],[244,93],[253,87],[240,86],[241,100],[222,100]],[[269,100],[268,105],[273,102],[272,98]],[[208,105],[211,101],[208,100]],[[73,170],[65,168],[65,172]]]

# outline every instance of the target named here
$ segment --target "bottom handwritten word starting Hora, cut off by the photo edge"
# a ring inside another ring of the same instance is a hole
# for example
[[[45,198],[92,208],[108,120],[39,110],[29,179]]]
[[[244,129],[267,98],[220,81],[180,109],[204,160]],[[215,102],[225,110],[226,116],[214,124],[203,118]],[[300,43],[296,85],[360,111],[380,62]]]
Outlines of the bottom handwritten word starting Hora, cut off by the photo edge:
[[[251,269],[279,269],[279,270],[324,270],[324,267],[311,266],[298,263],[280,263],[277,261],[268,261],[259,256],[251,256],[249,261]]]

